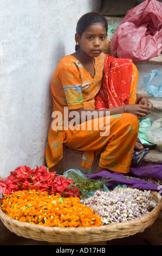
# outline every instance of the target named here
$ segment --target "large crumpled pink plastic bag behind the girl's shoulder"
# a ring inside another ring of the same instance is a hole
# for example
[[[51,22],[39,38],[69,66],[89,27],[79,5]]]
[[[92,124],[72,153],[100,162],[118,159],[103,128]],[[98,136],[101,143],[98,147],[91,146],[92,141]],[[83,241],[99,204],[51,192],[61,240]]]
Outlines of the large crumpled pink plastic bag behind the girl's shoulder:
[[[162,3],[146,0],[127,11],[112,36],[111,54],[141,62],[159,56],[161,46]]]

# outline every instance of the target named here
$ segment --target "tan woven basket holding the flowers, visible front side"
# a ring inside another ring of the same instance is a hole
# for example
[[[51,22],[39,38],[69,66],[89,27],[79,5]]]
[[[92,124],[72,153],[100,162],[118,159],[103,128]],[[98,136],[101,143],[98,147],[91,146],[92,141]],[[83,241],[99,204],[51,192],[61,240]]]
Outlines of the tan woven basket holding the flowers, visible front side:
[[[162,200],[157,192],[151,192],[157,202],[157,206],[147,215],[137,220],[116,224],[102,225],[92,228],[56,228],[16,221],[5,215],[0,208],[0,218],[11,232],[18,236],[38,241],[47,241],[62,245],[95,245],[103,244],[100,241],[119,239],[144,231],[158,218],[162,210]]]

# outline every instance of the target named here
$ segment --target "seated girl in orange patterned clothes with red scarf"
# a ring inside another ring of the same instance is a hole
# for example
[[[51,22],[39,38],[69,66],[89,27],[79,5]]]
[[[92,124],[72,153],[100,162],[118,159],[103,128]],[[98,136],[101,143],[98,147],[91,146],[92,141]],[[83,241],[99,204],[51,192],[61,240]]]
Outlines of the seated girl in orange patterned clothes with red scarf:
[[[94,173],[106,169],[129,172],[137,142],[138,119],[150,112],[152,103],[146,97],[136,95],[138,71],[132,61],[115,59],[103,53],[107,27],[102,15],[83,15],[77,22],[75,52],[60,60],[51,79],[53,119],[46,147],[50,171],[61,160],[64,144],[83,151],[81,164],[86,169],[90,168],[94,157],[100,154],[99,166]],[[102,87],[104,79],[111,90]],[[113,91],[115,84],[118,88]],[[64,107],[68,107],[68,112],[64,112]],[[93,113],[94,110],[98,117],[87,114],[87,119],[83,120],[83,114]],[[61,113],[60,119],[57,118],[60,126],[57,127],[55,113]],[[74,123],[70,123],[74,114],[79,117],[79,120],[75,119],[77,129],[74,129]],[[99,114],[103,115],[104,127],[110,114],[110,132],[106,136],[101,136],[102,129],[96,129],[94,124],[96,119],[101,123]],[[67,116],[71,119],[68,120]],[[69,126],[65,125],[64,120],[69,121]],[[82,122],[85,122],[86,129],[82,129]]]

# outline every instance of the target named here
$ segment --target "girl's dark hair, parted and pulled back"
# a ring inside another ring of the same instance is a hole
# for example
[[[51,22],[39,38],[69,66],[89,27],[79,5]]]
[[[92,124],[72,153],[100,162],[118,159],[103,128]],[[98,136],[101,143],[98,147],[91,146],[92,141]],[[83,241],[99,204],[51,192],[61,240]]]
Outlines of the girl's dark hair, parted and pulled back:
[[[92,12],[92,13],[87,13],[83,15],[79,19],[76,25],[76,33],[79,33],[80,36],[82,36],[82,33],[85,32],[86,28],[90,25],[93,25],[94,23],[102,23],[107,32],[108,24],[105,17],[103,17],[99,13]],[[78,49],[79,49],[79,45],[75,45],[75,51],[77,51]]]

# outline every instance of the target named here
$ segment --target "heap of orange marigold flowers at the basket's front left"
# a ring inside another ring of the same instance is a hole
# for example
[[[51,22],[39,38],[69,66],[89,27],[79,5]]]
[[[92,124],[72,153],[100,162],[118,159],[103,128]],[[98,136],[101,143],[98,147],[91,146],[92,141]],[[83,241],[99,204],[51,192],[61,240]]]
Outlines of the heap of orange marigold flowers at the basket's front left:
[[[96,227],[102,225],[93,210],[80,203],[79,198],[63,198],[59,193],[24,190],[5,195],[2,211],[15,220],[48,227]]]

